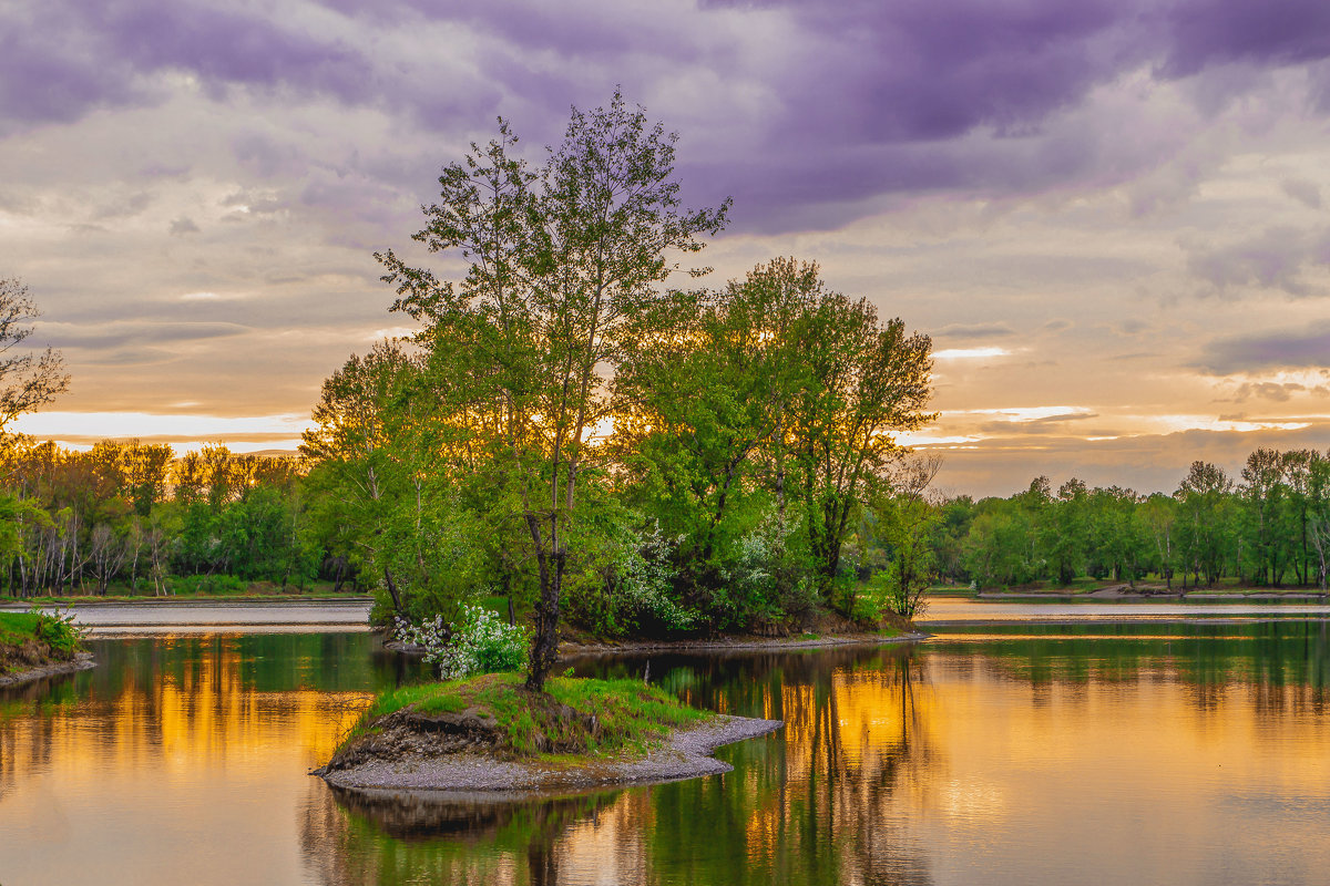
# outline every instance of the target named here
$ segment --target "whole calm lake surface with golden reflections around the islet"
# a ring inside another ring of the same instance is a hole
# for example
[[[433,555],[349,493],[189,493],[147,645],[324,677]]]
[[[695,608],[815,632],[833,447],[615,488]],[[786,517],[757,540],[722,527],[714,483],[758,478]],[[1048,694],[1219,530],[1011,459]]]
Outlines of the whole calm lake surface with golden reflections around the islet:
[[[728,776],[507,806],[305,774],[419,676],[367,634],[97,640],[97,669],[0,695],[0,883],[1326,882],[1325,622],[948,631],[656,656],[787,727]]]

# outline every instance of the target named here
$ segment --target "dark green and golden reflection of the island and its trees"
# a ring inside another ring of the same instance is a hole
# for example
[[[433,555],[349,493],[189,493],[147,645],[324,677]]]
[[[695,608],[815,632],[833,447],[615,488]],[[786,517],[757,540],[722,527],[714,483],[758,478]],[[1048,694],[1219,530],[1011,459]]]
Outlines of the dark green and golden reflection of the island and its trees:
[[[557,801],[311,786],[307,869],[336,885],[931,882],[896,810],[936,761],[936,699],[908,650],[660,656],[652,673],[692,704],[785,719],[786,731],[724,749],[726,776]]]

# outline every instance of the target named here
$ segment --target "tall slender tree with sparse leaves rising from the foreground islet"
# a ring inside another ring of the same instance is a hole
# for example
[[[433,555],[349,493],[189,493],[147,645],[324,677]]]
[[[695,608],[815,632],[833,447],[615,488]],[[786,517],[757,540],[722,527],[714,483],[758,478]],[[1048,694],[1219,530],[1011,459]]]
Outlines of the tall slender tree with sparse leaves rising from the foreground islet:
[[[593,456],[589,430],[609,414],[601,372],[613,369],[632,321],[662,298],[716,210],[680,211],[676,135],[650,126],[616,90],[609,108],[572,112],[563,143],[532,170],[511,157],[516,137],[472,145],[439,177],[439,202],[415,234],[431,252],[468,262],[454,286],[394,252],[378,255],[398,310],[427,323],[420,343],[480,369],[455,405],[488,413],[481,441],[507,473],[503,487],[531,538],[539,599],[527,685],[544,688],[557,650],[577,484]],[[459,396],[460,395],[460,396]]]

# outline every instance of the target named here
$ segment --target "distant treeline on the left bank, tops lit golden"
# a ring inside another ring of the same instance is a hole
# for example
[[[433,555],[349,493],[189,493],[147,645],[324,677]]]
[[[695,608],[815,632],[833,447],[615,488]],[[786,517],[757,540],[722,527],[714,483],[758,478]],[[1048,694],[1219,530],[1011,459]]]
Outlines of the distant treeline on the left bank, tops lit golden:
[[[305,584],[327,562],[305,522],[299,462],[225,446],[102,441],[89,452],[9,441],[0,562],[16,596]],[[340,576],[340,575],[339,575]]]

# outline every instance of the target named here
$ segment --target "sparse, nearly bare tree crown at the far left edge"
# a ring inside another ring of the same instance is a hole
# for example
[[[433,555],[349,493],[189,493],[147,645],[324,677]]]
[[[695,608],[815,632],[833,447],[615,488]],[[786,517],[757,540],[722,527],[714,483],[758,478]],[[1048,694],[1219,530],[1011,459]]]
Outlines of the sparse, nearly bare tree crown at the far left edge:
[[[28,287],[13,278],[0,279],[0,441],[7,438],[9,422],[69,388],[59,351],[20,349],[32,336],[29,324],[40,315]]]

